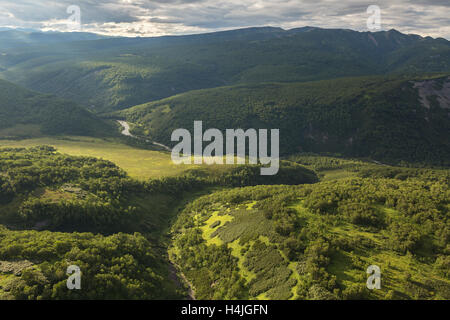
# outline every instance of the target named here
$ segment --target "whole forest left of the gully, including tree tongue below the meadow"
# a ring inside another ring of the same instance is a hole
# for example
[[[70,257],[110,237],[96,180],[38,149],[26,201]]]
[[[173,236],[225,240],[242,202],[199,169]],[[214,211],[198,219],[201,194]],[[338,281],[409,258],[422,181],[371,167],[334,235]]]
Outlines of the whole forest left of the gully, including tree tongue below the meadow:
[[[8,227],[0,227],[0,298],[180,298],[160,238],[183,196],[318,181],[294,162],[282,164],[277,180],[259,174],[258,166],[243,165],[137,181],[109,161],[52,147],[0,149],[0,224]],[[65,290],[71,264],[88,284],[80,293]]]

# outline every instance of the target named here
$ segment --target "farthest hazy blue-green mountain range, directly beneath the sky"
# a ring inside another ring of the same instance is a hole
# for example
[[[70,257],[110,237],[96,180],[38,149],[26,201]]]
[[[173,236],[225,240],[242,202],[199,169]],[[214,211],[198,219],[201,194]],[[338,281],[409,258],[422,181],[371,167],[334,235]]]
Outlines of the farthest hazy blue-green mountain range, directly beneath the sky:
[[[3,50],[3,76],[97,111],[203,88],[450,71],[450,42],[398,31],[250,28]]]

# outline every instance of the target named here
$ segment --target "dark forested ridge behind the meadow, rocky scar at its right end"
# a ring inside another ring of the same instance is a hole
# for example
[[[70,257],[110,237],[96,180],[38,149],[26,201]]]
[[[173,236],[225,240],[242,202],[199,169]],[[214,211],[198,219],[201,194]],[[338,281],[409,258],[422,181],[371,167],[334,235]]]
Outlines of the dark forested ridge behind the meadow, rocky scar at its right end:
[[[199,90],[116,113],[170,144],[178,128],[280,129],[283,154],[448,164],[450,78],[364,77]]]

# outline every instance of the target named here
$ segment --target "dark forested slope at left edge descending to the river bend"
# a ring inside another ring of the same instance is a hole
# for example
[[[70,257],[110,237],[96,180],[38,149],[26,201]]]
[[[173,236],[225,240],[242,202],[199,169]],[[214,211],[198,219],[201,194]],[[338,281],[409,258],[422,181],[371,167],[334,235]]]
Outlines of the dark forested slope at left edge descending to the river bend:
[[[104,121],[73,102],[0,80],[0,137],[111,132]]]

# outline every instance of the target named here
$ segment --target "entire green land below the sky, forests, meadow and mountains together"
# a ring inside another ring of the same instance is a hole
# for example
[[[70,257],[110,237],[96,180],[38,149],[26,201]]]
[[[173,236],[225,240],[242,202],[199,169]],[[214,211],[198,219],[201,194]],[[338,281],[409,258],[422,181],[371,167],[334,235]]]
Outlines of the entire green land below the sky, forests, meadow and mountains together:
[[[449,300],[449,62],[396,30],[0,31],[0,300]],[[176,168],[154,142],[200,120],[280,129],[278,174]]]

